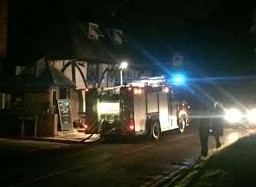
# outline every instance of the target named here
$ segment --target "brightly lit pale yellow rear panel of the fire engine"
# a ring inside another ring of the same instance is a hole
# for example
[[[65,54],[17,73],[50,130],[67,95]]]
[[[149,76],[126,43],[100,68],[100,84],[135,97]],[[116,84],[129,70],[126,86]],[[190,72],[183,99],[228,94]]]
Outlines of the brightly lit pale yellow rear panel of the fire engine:
[[[117,102],[99,102],[97,110],[99,114],[117,114],[120,112],[120,104]]]

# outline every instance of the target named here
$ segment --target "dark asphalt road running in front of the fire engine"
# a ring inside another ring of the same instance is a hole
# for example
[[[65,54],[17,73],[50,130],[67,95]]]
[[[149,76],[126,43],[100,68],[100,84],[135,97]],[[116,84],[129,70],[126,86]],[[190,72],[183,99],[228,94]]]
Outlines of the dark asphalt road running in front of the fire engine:
[[[251,130],[225,129],[223,143]],[[209,139],[214,150],[215,140]],[[176,170],[173,163],[200,153],[197,126],[183,134],[162,134],[159,141],[130,143],[45,143],[0,139],[0,186],[157,186]]]

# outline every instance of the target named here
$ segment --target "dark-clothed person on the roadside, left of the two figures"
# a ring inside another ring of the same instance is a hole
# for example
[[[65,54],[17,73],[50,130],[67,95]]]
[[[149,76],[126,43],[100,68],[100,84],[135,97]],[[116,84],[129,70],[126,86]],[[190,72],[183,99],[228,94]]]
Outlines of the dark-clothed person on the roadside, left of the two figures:
[[[199,137],[201,143],[201,156],[208,155],[208,136],[210,133],[210,119],[208,107],[202,107],[201,119],[199,122]]]

